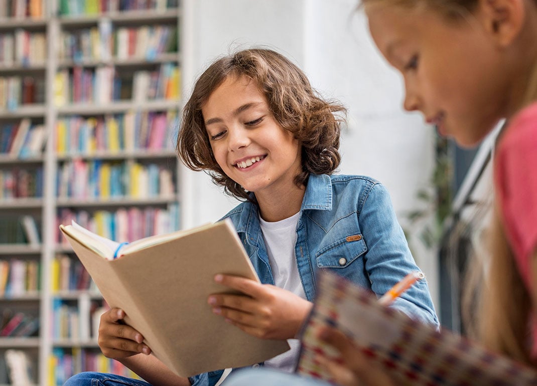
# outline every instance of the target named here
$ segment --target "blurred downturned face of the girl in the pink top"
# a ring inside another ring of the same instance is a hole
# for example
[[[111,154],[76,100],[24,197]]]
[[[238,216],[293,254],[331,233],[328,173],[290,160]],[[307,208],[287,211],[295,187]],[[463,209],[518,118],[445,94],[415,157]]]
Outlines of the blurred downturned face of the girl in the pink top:
[[[367,4],[369,31],[401,72],[404,108],[462,146],[478,143],[505,116],[509,76],[497,44],[479,23],[446,21],[438,12]]]

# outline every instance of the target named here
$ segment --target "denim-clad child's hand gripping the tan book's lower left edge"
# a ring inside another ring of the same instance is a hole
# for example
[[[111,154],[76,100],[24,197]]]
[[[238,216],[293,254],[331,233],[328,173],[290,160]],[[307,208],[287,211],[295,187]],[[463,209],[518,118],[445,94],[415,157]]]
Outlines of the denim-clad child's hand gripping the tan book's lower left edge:
[[[112,359],[127,358],[144,353],[149,355],[151,349],[142,344],[142,334],[132,327],[123,324],[125,311],[112,308],[100,317],[99,347],[105,357]]]

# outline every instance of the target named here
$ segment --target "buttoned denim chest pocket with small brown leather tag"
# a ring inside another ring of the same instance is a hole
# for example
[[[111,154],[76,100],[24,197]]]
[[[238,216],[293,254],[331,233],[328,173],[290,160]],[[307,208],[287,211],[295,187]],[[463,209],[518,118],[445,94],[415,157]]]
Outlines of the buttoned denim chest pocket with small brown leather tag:
[[[318,268],[345,268],[367,252],[361,234],[343,237],[315,254]]]

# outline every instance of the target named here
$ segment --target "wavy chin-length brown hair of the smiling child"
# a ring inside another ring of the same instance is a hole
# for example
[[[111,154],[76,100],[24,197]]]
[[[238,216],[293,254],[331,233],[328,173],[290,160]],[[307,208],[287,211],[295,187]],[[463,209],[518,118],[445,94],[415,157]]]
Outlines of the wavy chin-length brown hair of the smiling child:
[[[302,186],[310,173],[331,174],[339,166],[339,135],[346,109],[337,101],[322,99],[304,73],[285,56],[263,48],[246,49],[224,56],[198,78],[183,109],[177,152],[192,170],[206,170],[227,194],[249,199],[249,193],[231,180],[214,158],[201,109],[228,77],[251,79],[269,103],[275,120],[293,133],[302,147],[302,172],[295,183]]]

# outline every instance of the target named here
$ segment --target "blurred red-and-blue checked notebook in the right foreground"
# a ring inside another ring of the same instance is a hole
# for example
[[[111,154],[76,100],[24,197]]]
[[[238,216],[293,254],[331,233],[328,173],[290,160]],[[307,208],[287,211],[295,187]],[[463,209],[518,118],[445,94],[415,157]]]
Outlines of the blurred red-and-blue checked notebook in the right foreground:
[[[382,363],[404,385],[537,385],[537,372],[480,345],[382,306],[369,291],[333,273],[320,275],[317,299],[302,331],[297,372],[330,381],[316,355],[336,358],[333,347],[317,339],[323,325],[336,326],[368,357]]]

